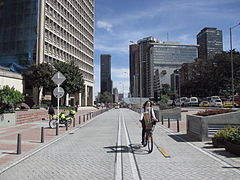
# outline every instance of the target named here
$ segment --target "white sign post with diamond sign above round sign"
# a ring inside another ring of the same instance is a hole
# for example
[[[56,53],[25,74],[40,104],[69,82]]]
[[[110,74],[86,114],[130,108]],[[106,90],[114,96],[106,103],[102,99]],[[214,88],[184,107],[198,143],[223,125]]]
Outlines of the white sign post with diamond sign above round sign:
[[[57,87],[53,90],[53,95],[57,98],[57,118],[58,118],[57,126],[59,126],[59,101],[60,98],[63,97],[64,95],[64,89],[60,87],[60,84],[62,84],[65,80],[66,77],[59,71],[52,77],[52,81],[55,84],[57,84]]]

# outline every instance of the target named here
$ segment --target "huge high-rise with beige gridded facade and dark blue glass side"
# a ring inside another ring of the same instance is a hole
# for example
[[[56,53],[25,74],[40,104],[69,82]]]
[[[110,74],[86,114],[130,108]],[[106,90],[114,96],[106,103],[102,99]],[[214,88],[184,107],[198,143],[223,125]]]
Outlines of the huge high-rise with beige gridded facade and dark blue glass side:
[[[21,72],[32,64],[73,61],[93,104],[94,0],[0,0],[0,65]]]

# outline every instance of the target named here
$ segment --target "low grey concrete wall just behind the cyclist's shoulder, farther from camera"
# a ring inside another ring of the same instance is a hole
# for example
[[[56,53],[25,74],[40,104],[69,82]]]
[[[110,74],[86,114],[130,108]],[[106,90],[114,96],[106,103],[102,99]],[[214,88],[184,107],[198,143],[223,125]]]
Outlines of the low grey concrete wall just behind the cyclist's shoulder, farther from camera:
[[[164,109],[164,110],[154,110],[159,121],[167,121],[168,118],[170,120],[179,120],[181,121],[181,108],[176,107],[173,109]]]

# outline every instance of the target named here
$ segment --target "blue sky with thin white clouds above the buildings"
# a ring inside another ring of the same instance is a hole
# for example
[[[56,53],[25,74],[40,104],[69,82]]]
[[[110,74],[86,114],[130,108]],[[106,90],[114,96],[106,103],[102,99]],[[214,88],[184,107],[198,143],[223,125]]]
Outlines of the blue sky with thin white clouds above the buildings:
[[[240,0],[95,0],[94,95],[100,91],[100,55],[111,55],[113,88],[129,92],[129,45],[145,37],[197,44],[204,27],[223,31],[240,23]],[[233,48],[240,50],[240,26],[232,29]]]

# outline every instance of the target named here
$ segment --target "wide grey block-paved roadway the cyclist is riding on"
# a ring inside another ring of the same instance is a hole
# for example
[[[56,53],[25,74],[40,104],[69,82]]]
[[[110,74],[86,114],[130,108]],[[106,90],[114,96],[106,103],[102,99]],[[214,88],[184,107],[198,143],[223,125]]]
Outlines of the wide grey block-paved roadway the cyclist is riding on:
[[[14,166],[1,167],[0,179],[240,178],[240,157],[215,153],[208,142],[194,142],[160,124],[149,154],[140,145],[139,116],[128,109],[103,113]]]

